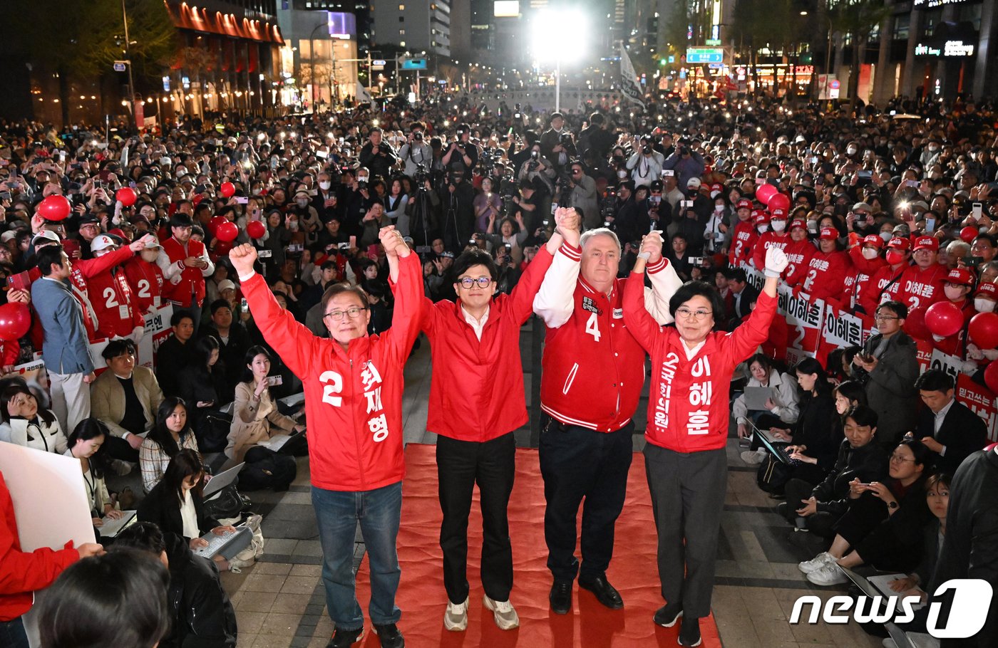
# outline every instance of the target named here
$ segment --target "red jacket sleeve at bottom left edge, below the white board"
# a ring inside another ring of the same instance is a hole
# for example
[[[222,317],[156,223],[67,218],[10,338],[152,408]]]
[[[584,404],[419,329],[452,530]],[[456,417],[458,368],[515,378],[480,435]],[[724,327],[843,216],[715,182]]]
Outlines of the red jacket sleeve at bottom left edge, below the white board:
[[[34,590],[51,585],[63,569],[79,559],[76,549],[21,550],[14,502],[0,473],[0,622],[12,621],[31,609]]]

